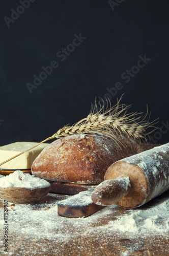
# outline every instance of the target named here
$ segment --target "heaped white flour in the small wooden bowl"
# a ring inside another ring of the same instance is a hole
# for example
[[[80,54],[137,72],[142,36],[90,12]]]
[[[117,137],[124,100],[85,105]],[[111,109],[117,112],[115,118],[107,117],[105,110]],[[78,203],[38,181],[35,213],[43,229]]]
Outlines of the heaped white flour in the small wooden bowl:
[[[49,186],[50,183],[46,180],[25,174],[21,170],[16,170],[14,173],[0,179],[0,187],[25,187],[34,189]]]

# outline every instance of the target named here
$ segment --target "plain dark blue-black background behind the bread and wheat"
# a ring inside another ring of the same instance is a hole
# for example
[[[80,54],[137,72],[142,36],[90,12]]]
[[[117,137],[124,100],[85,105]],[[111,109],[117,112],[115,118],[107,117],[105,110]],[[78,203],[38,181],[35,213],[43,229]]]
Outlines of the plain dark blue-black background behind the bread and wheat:
[[[103,0],[36,0],[8,28],[4,17],[21,4],[1,1],[0,145],[40,142],[86,117],[95,97],[104,98],[117,82],[123,88],[112,104],[124,94],[131,112],[146,113],[148,104],[158,127],[168,122],[168,1],[120,2],[113,8]],[[80,33],[87,38],[61,61],[57,52]],[[122,73],[145,54],[151,60],[126,83]],[[30,93],[26,83],[52,60],[59,67]],[[168,130],[153,140],[167,143]]]

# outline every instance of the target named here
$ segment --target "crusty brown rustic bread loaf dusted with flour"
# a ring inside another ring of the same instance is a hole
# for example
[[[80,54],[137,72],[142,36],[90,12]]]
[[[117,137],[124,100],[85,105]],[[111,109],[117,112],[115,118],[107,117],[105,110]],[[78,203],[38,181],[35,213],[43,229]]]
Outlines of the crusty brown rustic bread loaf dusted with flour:
[[[33,162],[32,174],[51,181],[98,184],[112,163],[146,149],[125,137],[117,144],[103,136],[71,135],[45,147]]]

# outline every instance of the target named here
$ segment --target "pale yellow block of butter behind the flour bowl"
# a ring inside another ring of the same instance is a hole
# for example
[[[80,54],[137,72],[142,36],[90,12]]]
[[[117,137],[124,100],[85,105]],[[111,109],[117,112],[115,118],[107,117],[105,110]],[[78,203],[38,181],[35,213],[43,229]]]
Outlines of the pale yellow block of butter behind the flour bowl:
[[[35,145],[38,142],[15,142],[5,146],[0,146],[0,163],[3,163],[5,160],[16,156],[20,152],[27,150]],[[1,169],[31,169],[32,163],[35,158],[41,153],[43,148],[48,146],[48,143],[42,143],[39,146],[33,148],[30,151],[25,152],[24,154],[10,160],[9,162],[0,165]]]

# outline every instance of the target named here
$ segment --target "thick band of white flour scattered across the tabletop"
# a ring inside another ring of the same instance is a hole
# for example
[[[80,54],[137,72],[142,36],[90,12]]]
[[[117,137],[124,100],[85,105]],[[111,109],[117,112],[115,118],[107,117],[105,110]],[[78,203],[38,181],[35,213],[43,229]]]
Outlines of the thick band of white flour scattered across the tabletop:
[[[68,226],[71,225],[72,228],[75,226],[76,228],[80,228],[80,226],[85,225],[86,232],[89,231],[89,224],[92,224],[91,228],[96,232],[97,230],[101,232],[103,229],[107,229],[108,232],[119,230],[121,232],[127,231],[129,233],[144,233],[146,231],[169,232],[169,198],[163,198],[146,209],[141,207],[126,210],[117,205],[110,205],[86,218],[65,218],[58,215],[57,204],[58,202],[62,202],[59,200],[59,197],[62,196],[64,195],[49,193],[46,200],[50,197],[55,197],[56,199],[58,197],[58,200],[51,203],[47,203],[46,201],[44,204],[15,204],[15,206],[13,206],[14,211],[10,211],[9,214],[10,223],[12,224],[13,222],[12,225],[18,226],[19,221],[23,220],[23,224],[26,222],[26,225],[22,225],[22,229],[19,231],[25,231],[31,235],[32,231],[35,232],[36,230],[37,236],[42,236],[43,232],[48,238],[61,236],[61,234],[55,232],[55,230],[59,231],[61,227],[64,228],[64,224]],[[65,195],[65,197],[70,199],[72,196]],[[66,202],[66,200],[63,200],[63,202]],[[39,209],[35,210],[37,207]],[[118,217],[116,217],[116,212],[119,212],[119,209],[121,209],[121,214],[120,216],[118,214]],[[26,219],[28,216],[31,216],[29,222],[27,222]],[[107,223],[100,226],[99,219],[105,217],[107,218]],[[2,222],[3,221],[4,220],[2,220]],[[94,227],[93,222],[96,222],[98,225],[95,225]],[[37,228],[35,227],[35,224],[38,225]],[[67,230],[67,232],[69,232],[69,230]],[[66,238],[65,229],[62,236]]]

